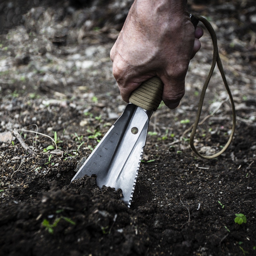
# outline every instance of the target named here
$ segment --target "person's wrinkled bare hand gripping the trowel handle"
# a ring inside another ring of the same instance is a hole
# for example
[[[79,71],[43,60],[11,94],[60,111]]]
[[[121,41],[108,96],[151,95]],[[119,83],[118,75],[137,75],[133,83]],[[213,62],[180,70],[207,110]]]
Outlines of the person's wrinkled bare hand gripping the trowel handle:
[[[195,30],[189,18],[187,1],[135,0],[110,52],[123,100],[129,102],[133,90],[157,75],[164,83],[165,105],[176,108],[202,35],[202,28]]]

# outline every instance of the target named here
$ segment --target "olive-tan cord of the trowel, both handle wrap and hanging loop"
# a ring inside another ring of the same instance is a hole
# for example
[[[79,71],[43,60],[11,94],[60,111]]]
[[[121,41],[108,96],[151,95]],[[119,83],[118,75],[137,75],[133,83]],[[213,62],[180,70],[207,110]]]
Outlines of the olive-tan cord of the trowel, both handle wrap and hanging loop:
[[[192,148],[192,150],[200,157],[205,158],[205,159],[212,159],[215,158],[217,156],[220,156],[229,146],[229,144],[232,141],[234,132],[235,132],[235,127],[236,127],[236,113],[235,113],[235,104],[234,104],[234,100],[232,97],[232,94],[230,92],[230,89],[228,87],[228,83],[226,80],[226,76],[222,67],[222,63],[220,60],[220,55],[219,55],[219,51],[218,51],[218,45],[217,45],[217,36],[215,34],[214,29],[212,28],[212,25],[210,24],[210,22],[208,20],[206,20],[205,18],[201,17],[201,16],[197,16],[195,14],[193,14],[193,16],[201,21],[204,26],[207,28],[207,30],[209,31],[211,38],[212,38],[212,44],[213,44],[213,57],[212,57],[212,66],[210,68],[210,72],[206,78],[206,81],[204,83],[202,92],[201,92],[201,96],[200,96],[200,100],[199,100],[199,104],[198,104],[198,110],[197,110],[197,115],[196,115],[196,121],[195,124],[193,126],[191,135],[190,135],[190,140],[189,140],[189,144],[190,147]],[[229,95],[229,99],[231,102],[231,107],[232,107],[232,117],[233,117],[233,127],[232,127],[232,132],[230,134],[229,140],[227,142],[227,144],[216,154],[212,155],[212,156],[204,156],[201,155],[197,149],[195,148],[194,145],[194,138],[195,138],[195,134],[196,134],[196,129],[199,123],[199,119],[200,119],[200,115],[201,115],[201,111],[203,108],[203,103],[204,103],[204,96],[205,96],[205,92],[207,89],[207,86],[210,82],[210,79],[212,77],[212,73],[213,70],[215,68],[217,62],[217,66],[220,70],[220,74],[222,77],[222,80],[224,82],[224,85],[226,87],[226,90],[228,92]],[[134,90],[129,98],[129,101],[146,110],[155,110],[158,108],[158,106],[161,103],[162,100],[162,93],[163,93],[163,82],[161,81],[161,79],[158,76],[154,76],[150,79],[148,79],[147,81],[143,82],[136,90]]]

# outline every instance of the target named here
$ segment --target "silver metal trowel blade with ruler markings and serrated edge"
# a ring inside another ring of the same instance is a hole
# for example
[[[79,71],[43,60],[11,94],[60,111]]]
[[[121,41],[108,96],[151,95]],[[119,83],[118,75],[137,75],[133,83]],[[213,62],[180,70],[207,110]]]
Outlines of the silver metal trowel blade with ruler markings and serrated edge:
[[[100,188],[121,188],[122,199],[130,205],[152,113],[128,104],[71,182],[96,174]]]

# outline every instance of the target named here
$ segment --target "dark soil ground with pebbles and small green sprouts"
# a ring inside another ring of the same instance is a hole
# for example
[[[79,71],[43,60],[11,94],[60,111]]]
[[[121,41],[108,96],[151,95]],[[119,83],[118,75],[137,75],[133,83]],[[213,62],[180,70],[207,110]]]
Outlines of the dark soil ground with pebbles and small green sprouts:
[[[212,160],[189,147],[212,61],[204,29],[180,106],[161,104],[151,117],[130,208],[95,176],[70,181],[126,105],[109,51],[132,1],[1,2],[1,255],[256,255],[255,3],[189,2],[216,30],[236,132]],[[201,120],[221,107],[195,140],[204,154],[228,140],[226,98],[216,69]],[[238,213],[246,223],[235,223]]]

